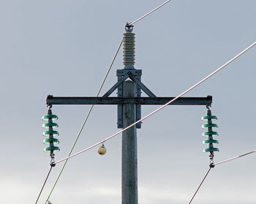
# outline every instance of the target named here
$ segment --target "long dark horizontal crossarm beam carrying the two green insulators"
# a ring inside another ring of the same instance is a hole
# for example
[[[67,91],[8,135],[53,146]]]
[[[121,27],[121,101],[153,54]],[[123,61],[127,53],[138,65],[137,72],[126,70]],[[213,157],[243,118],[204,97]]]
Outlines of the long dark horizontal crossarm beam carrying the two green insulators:
[[[140,105],[164,105],[175,97],[53,97],[48,95],[46,99],[47,105],[116,105],[124,103],[135,103]],[[212,96],[207,97],[181,97],[170,105],[205,105],[211,106]]]

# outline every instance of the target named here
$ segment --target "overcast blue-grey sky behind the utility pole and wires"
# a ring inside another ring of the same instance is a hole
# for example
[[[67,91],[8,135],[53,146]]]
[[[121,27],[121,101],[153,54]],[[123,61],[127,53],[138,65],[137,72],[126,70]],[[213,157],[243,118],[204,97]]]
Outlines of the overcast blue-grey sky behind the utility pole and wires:
[[[0,1],[1,203],[34,203],[48,173],[42,115],[47,95],[95,96],[124,26],[164,1]],[[256,40],[254,0],[173,0],[135,23],[136,63],[157,96],[179,95]],[[122,50],[121,50],[122,51]],[[122,53],[102,89],[117,81]],[[213,96],[220,152],[214,161],[255,148],[256,47],[185,96]],[[143,94],[145,96],[145,94]],[[116,92],[111,96],[116,96]],[[59,116],[56,160],[66,157],[90,106],[53,106]],[[143,106],[142,116],[159,106]],[[208,170],[200,117],[206,106],[168,106],[138,130],[140,204],[189,203]],[[116,133],[116,106],[94,106],[74,152]],[[53,204],[121,203],[121,136],[72,158],[50,197]],[[197,204],[252,204],[252,154],[218,165]],[[45,203],[61,163],[39,203]]]

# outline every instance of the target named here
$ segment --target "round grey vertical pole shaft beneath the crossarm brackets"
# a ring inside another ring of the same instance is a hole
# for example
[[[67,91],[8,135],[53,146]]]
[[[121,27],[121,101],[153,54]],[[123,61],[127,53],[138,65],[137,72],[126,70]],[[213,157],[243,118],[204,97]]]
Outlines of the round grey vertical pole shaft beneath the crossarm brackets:
[[[124,97],[135,97],[135,82],[123,84]],[[136,104],[123,105],[124,127],[136,122]],[[122,204],[138,204],[137,130],[132,126],[122,133]]]

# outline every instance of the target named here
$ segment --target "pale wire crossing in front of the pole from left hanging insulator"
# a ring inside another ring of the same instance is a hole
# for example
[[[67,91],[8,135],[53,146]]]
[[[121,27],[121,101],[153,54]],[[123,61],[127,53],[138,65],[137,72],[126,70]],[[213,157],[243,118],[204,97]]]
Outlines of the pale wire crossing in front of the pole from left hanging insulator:
[[[229,61],[227,61],[227,63],[223,64],[222,66],[220,66],[219,68],[217,68],[217,70],[213,71],[211,74],[209,74],[208,76],[206,76],[205,78],[203,78],[202,80],[200,80],[200,82],[197,82],[195,85],[193,85],[192,87],[190,87],[189,89],[185,90],[183,93],[181,93],[180,95],[178,95],[176,98],[173,98],[173,100],[165,103],[165,105],[159,107],[158,109],[156,109],[155,111],[151,112],[150,114],[146,115],[146,117],[143,117],[141,119],[139,119],[137,122],[132,123],[132,125],[129,125],[128,127],[125,127],[124,129],[118,131],[117,133],[113,134],[112,136],[109,136],[108,138],[105,138],[102,141],[99,141],[97,144],[94,144],[92,146],[89,146],[86,149],[83,149],[82,151],[76,153],[76,154],[72,154],[69,157],[66,157],[62,160],[59,160],[57,162],[55,162],[55,164],[59,163],[59,162],[63,162],[64,160],[68,160],[71,157],[75,157],[78,154],[81,154],[83,152],[88,151],[89,149],[93,148],[94,146],[97,146],[99,144],[104,143],[105,141],[110,140],[111,138],[117,136],[118,134],[124,132],[125,130],[129,129],[129,127],[132,127],[133,125],[136,125],[138,122],[143,121],[144,119],[147,119],[148,117],[151,117],[151,115],[157,113],[157,111],[160,111],[161,109],[165,108],[165,106],[169,105],[170,103],[172,103],[173,101],[176,101],[176,99],[180,98],[182,95],[188,93],[190,90],[194,89],[195,87],[197,87],[198,85],[200,85],[201,83],[203,83],[204,81],[206,81],[208,78],[210,78],[211,76],[213,76],[214,74],[216,74],[218,71],[222,70],[222,68],[225,68],[225,66],[227,66],[228,64],[232,63],[234,60],[236,60],[237,58],[239,58],[241,55],[244,54],[244,52],[248,51],[249,49],[251,49],[253,46],[255,46],[256,42],[252,43],[251,45],[249,45],[249,47],[246,47],[246,49],[244,49],[243,51],[241,51],[238,55],[236,55],[234,58],[230,59]]]

